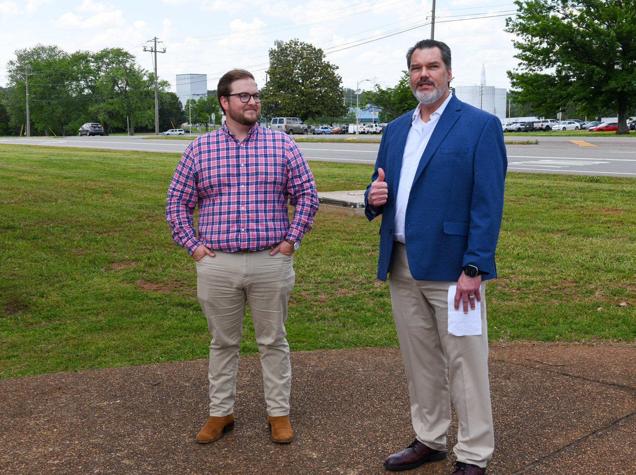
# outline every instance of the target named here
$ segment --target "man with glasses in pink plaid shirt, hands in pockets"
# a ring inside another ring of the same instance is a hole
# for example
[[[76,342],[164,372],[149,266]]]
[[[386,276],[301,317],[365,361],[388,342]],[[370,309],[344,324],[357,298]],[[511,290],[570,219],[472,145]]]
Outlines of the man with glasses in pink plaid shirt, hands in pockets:
[[[285,338],[294,288],[293,254],[318,210],[314,177],[295,142],[259,126],[254,76],[233,69],[217,87],[226,121],[194,140],[172,177],[166,219],[174,241],[197,263],[197,293],[212,333],[209,443],[234,427],[233,405],[245,302],[263,366],[267,419],[275,442],[293,437],[291,365]],[[287,199],[295,207],[289,223]],[[198,204],[198,236],[193,211]]]

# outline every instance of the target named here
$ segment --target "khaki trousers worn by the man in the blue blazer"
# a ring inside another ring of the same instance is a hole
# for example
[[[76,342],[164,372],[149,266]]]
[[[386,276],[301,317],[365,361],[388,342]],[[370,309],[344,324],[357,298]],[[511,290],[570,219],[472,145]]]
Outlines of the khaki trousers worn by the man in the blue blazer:
[[[413,279],[406,246],[397,242],[389,272],[393,316],[417,439],[434,450],[446,450],[450,377],[450,394],[459,420],[453,452],[460,462],[485,467],[495,447],[485,283],[481,284],[481,335],[455,337],[448,334],[447,297],[448,287],[456,282]]]

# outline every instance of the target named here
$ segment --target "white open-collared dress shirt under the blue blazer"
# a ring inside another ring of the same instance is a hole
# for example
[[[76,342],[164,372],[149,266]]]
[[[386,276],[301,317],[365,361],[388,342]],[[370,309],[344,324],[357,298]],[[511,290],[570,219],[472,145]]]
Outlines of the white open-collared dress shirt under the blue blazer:
[[[406,217],[406,206],[408,206],[408,197],[410,196],[411,187],[413,186],[413,178],[415,171],[420,164],[420,158],[424,154],[424,149],[429,143],[429,139],[435,126],[439,121],[439,117],[446,109],[446,105],[450,102],[453,93],[450,93],[446,100],[442,102],[438,110],[431,114],[428,122],[422,121],[420,109],[422,104],[418,104],[417,109],[413,112],[413,122],[411,129],[406,137],[406,146],[404,147],[404,155],[402,156],[402,169],[399,174],[399,185],[397,185],[396,197],[396,215],[393,221],[393,240],[406,244],[404,236],[404,218]]]

